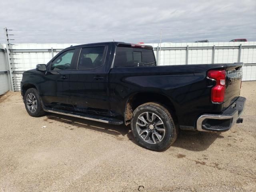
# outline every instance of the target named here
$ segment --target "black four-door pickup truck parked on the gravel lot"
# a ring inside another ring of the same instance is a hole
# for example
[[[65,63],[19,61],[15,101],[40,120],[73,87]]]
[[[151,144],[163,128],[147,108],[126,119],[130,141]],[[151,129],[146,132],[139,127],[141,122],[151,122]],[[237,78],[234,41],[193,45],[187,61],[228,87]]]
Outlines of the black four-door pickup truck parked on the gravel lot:
[[[71,46],[23,73],[30,116],[45,112],[130,124],[138,144],[161,151],[178,130],[226,131],[242,114],[243,63],[156,66],[152,46]]]

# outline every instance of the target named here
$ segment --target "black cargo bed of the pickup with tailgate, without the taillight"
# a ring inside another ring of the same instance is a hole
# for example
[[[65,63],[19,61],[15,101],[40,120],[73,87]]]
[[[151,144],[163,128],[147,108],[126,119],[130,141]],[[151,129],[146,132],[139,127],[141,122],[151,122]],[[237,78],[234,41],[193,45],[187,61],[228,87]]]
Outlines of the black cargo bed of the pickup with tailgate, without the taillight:
[[[197,64],[112,68],[109,73],[110,103],[114,112],[122,113],[134,93],[161,93],[170,99],[180,126],[195,127],[195,120],[204,113],[221,113],[240,94],[243,63]],[[211,102],[215,82],[206,78],[209,70],[226,70],[224,102]],[[146,98],[145,98],[146,99]]]

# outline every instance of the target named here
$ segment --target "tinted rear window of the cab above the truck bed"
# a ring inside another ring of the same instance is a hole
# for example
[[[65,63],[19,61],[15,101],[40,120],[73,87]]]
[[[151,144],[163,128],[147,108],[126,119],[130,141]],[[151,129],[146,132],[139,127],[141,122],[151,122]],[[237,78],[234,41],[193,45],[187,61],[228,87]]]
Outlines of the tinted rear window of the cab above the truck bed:
[[[151,49],[117,47],[114,67],[156,66],[154,52]]]

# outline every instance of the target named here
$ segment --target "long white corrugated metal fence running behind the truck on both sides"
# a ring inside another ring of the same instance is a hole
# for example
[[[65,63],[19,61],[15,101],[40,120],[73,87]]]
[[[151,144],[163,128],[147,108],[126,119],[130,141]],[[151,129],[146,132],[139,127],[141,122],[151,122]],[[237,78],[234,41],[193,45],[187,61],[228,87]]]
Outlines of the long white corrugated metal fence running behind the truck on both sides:
[[[12,69],[14,90],[20,90],[20,81],[25,70],[35,68],[36,64],[46,64],[58,52],[70,45],[10,45],[9,64]],[[161,46],[160,44],[148,45],[154,47],[158,65],[234,63],[240,61],[245,63],[243,80],[256,80],[256,42],[162,43]],[[3,90],[5,89],[3,88]]]

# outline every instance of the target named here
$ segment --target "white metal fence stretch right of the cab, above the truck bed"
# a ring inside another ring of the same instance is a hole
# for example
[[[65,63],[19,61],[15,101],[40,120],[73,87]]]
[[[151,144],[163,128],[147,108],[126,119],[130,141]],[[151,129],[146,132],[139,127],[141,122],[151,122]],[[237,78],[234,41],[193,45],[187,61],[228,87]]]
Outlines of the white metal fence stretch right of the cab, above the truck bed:
[[[159,65],[244,62],[243,81],[256,80],[256,42],[162,43]]]

